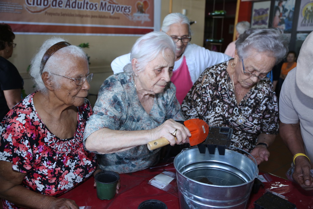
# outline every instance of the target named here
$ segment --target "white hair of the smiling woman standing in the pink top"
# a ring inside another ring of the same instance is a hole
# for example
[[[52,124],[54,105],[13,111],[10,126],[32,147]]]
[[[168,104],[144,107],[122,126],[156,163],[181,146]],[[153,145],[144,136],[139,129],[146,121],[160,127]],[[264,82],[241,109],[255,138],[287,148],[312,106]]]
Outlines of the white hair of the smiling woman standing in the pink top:
[[[165,16],[161,30],[165,33],[170,29],[172,24],[179,23],[179,24],[187,24],[188,25],[188,33],[191,35],[191,28],[190,28],[190,21],[189,19],[183,15],[182,13],[170,13]]]

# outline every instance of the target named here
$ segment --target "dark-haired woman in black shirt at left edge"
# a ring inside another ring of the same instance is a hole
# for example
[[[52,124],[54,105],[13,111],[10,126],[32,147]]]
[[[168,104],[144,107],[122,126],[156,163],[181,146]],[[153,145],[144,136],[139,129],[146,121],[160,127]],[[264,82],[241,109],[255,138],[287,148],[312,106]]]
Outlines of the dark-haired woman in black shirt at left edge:
[[[23,78],[8,60],[16,46],[14,39],[11,26],[0,24],[0,121],[22,99]]]

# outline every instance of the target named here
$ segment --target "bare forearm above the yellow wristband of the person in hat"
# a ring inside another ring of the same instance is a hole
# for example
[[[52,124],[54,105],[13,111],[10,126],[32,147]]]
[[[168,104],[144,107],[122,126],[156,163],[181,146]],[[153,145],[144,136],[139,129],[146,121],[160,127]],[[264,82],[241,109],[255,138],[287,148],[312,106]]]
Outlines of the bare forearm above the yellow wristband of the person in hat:
[[[293,156],[297,153],[305,154],[300,123],[286,124],[280,122],[279,132],[282,140]]]

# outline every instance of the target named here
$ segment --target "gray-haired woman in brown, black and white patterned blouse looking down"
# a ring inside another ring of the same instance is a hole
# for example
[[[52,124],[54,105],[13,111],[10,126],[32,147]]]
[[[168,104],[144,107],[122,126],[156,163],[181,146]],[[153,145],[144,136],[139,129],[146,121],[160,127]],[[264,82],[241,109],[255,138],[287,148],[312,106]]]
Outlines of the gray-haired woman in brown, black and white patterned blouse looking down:
[[[207,68],[182,103],[186,119],[233,128],[231,145],[251,153],[260,164],[278,133],[278,106],[266,77],[288,51],[279,29],[249,29],[236,41],[235,57]]]

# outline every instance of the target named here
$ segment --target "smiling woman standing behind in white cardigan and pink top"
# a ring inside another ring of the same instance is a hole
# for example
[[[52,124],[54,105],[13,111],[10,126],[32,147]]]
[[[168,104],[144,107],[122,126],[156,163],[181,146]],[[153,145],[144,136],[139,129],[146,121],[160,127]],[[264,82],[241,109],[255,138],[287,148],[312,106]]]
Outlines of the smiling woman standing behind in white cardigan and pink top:
[[[176,44],[171,81],[176,86],[176,96],[181,104],[194,82],[207,67],[227,61],[231,57],[190,44],[190,21],[181,13],[168,14],[163,20],[161,31],[170,36]],[[122,55],[112,61],[111,68],[114,73],[123,72],[123,67],[130,62],[130,54]]]

